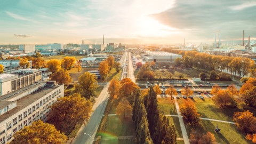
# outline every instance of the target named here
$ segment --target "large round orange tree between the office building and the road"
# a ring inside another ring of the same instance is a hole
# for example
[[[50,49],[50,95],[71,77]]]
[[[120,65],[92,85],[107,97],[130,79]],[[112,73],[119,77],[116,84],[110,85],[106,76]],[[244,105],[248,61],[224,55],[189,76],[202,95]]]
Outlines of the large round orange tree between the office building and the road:
[[[82,98],[80,94],[74,93],[58,99],[51,106],[47,122],[54,124],[57,130],[68,135],[77,124],[88,121],[91,111],[92,103]]]

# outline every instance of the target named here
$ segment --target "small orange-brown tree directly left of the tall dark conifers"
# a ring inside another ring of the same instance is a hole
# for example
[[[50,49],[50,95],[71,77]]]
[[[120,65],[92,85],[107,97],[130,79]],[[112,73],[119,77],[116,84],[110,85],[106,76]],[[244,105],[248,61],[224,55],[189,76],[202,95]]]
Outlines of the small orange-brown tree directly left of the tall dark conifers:
[[[123,118],[132,114],[132,105],[129,103],[128,100],[122,98],[122,100],[118,103],[116,107],[116,114],[118,116],[123,116]]]

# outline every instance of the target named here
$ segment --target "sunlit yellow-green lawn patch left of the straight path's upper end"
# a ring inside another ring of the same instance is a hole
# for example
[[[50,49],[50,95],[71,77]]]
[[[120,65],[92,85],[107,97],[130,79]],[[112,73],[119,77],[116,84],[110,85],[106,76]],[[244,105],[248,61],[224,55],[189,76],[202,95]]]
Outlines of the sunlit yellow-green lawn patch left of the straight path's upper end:
[[[177,110],[175,108],[175,101],[168,98],[158,98],[158,107],[165,115],[177,115]]]

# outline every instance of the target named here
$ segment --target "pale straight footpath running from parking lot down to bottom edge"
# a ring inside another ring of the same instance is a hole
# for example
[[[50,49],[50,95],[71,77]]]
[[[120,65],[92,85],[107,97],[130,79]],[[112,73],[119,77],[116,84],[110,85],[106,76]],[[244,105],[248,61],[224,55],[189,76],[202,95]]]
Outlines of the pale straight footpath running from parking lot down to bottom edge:
[[[179,122],[180,122],[180,128],[181,128],[184,143],[189,144],[188,134],[187,134],[186,127],[183,122],[182,116],[180,115],[180,107],[179,107],[176,97],[174,97],[174,100],[175,100],[175,106],[176,106],[176,110],[177,110],[177,114],[178,114],[178,118],[179,118]]]

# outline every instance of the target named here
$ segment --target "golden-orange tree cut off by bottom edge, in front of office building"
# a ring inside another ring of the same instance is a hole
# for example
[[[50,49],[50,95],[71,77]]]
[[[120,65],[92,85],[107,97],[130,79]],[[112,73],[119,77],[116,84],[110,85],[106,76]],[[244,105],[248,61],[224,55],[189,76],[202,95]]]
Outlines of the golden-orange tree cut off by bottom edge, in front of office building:
[[[35,121],[30,126],[25,126],[22,130],[14,134],[14,139],[10,144],[14,143],[63,143],[68,141],[64,133],[56,130],[55,126],[43,123],[41,120]]]

